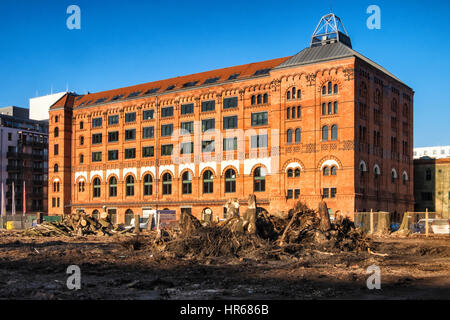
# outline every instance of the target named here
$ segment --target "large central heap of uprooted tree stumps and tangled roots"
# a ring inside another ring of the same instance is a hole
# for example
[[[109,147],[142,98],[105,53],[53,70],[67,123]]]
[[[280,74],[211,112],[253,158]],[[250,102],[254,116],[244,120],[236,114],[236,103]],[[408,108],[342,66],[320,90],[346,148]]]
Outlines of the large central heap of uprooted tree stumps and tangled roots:
[[[153,248],[176,257],[257,257],[321,252],[370,251],[371,243],[348,218],[330,222],[326,204],[319,211],[298,202],[285,218],[257,210],[249,197],[248,209],[238,214],[236,199],[230,200],[227,220],[203,226],[190,214],[182,214],[178,231],[161,231]]]

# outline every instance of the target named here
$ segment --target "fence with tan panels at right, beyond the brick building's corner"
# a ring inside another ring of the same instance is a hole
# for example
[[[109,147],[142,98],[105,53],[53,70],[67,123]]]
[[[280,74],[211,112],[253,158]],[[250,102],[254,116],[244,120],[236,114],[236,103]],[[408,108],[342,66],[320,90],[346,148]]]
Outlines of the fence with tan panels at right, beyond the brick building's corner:
[[[432,233],[431,221],[440,219],[436,212],[405,212],[391,214],[389,212],[370,211],[355,212],[355,226],[365,233],[385,234],[399,231],[400,233]],[[426,224],[425,221],[428,221]]]

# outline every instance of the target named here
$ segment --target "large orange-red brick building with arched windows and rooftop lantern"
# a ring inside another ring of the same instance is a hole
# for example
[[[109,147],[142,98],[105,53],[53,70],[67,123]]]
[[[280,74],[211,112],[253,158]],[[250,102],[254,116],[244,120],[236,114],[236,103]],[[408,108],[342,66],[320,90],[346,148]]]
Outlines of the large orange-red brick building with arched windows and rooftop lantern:
[[[334,212],[413,210],[413,96],[332,14],[293,56],[67,94],[50,110],[49,213],[223,218],[252,193],[272,212],[322,195]]]

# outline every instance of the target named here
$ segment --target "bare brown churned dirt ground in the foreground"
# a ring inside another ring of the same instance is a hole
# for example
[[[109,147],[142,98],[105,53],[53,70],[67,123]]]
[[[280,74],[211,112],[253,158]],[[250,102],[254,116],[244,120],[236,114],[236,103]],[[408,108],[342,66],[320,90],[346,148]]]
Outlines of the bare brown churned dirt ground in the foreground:
[[[450,299],[448,236],[373,238],[385,257],[306,250],[266,261],[169,258],[146,249],[149,236],[132,239],[0,231],[0,299]],[[81,290],[67,289],[69,265]],[[367,289],[371,265],[381,290]]]

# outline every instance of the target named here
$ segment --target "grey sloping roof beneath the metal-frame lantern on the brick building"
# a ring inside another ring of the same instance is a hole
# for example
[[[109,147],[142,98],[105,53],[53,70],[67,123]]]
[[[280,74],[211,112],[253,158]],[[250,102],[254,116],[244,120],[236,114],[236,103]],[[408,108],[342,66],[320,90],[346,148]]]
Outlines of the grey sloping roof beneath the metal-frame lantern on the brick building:
[[[357,57],[365,61],[366,63],[370,64],[371,66],[377,68],[378,70],[388,74],[398,82],[404,84],[400,79],[398,79],[392,73],[387,71],[385,68],[373,62],[369,58],[366,58],[362,54],[356,52],[355,50],[353,50],[352,48],[346,46],[341,42],[335,42],[332,44],[327,44],[318,47],[306,48],[297,53],[296,55],[292,56],[291,58],[287,59],[285,62],[281,63],[274,69],[295,67],[299,65],[313,64],[330,60],[344,59],[349,57]],[[406,84],[404,85],[407,86]]]

